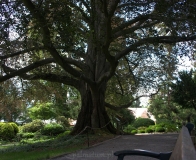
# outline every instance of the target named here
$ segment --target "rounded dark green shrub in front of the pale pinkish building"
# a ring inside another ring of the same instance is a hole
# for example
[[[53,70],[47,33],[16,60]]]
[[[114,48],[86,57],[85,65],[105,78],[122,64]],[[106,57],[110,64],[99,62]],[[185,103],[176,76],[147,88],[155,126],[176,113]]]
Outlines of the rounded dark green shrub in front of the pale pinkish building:
[[[133,126],[135,128],[138,127],[148,127],[150,125],[154,125],[154,121],[151,120],[150,118],[137,118],[134,122],[133,122]]]

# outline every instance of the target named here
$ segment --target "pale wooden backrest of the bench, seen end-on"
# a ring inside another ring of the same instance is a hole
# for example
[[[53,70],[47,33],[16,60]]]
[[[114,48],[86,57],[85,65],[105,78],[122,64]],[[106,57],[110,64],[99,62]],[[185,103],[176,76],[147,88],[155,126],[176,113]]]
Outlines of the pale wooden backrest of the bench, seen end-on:
[[[188,129],[183,126],[170,160],[196,160],[196,151]]]

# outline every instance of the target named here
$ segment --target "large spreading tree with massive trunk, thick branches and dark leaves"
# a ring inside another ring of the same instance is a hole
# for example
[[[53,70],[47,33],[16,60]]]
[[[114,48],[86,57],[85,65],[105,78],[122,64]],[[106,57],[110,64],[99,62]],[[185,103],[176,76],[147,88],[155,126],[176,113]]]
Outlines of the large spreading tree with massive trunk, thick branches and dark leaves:
[[[192,1],[4,0],[1,6],[0,82],[20,77],[76,88],[82,102],[73,134],[106,124],[115,132],[105,107],[128,104],[115,108],[105,93],[123,59],[131,73],[137,66],[131,59],[161,59],[164,45],[175,43],[183,54],[196,38]]]

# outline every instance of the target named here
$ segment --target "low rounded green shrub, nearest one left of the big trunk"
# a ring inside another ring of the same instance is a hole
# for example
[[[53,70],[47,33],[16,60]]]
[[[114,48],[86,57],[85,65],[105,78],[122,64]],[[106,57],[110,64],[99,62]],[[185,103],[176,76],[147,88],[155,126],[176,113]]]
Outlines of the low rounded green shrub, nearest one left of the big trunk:
[[[64,127],[57,123],[46,124],[41,130],[43,135],[58,135],[65,131]]]

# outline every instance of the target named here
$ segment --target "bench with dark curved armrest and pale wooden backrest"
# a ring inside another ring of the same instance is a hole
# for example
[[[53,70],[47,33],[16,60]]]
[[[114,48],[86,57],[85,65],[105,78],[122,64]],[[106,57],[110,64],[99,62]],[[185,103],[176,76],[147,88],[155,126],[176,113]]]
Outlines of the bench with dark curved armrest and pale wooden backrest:
[[[159,160],[196,160],[195,147],[188,129],[185,126],[182,127],[172,152],[156,153],[147,150],[133,149],[117,151],[114,152],[114,155],[118,156],[117,160],[123,160],[125,156],[133,155],[152,157]]]

